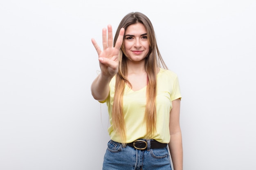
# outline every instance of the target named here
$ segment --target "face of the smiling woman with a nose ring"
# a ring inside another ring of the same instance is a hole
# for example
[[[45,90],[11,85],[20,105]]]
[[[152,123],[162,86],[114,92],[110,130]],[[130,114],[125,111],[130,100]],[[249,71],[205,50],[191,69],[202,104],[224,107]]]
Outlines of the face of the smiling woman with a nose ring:
[[[127,57],[134,62],[144,60],[148,55],[149,43],[146,28],[141,23],[127,27],[124,38],[124,49]]]

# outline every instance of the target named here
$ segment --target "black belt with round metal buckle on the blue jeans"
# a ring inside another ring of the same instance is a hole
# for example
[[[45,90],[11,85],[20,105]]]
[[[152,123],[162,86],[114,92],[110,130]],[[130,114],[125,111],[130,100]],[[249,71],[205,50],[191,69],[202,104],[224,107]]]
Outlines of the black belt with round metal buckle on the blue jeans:
[[[138,139],[136,141],[133,141],[132,143],[126,144],[127,146],[131,146],[135,149],[144,150],[148,148],[148,143],[146,140]],[[156,140],[150,140],[150,149],[156,149],[156,148],[165,148],[167,144],[160,143]]]

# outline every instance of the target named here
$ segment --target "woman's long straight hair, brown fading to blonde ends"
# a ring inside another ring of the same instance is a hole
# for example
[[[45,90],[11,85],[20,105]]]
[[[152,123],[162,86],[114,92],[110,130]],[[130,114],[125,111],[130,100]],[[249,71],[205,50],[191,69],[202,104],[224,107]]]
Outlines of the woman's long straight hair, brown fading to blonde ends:
[[[157,71],[159,67],[166,68],[155,38],[153,25],[146,15],[139,12],[127,14],[120,22],[114,38],[114,46],[117,42],[117,37],[121,28],[127,29],[128,26],[136,23],[141,23],[145,26],[149,42],[149,53],[146,57],[145,69],[148,74],[148,85],[146,89],[146,110],[145,121],[147,129],[147,138],[153,136],[156,132],[156,106],[155,100],[157,95]],[[119,70],[116,75],[115,95],[112,107],[112,125],[113,129],[119,133],[122,143],[126,143],[126,128],[123,114],[123,95],[126,84],[130,84],[127,79],[127,57],[124,49],[124,43],[121,46],[119,54]]]

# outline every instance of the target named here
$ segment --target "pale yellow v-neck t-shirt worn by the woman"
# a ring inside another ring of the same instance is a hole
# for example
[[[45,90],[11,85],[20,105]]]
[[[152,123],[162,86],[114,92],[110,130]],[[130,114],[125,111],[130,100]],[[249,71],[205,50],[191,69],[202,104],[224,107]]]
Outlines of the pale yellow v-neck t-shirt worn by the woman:
[[[110,127],[108,132],[110,139],[121,143],[121,138],[112,127],[112,106],[115,94],[115,77],[110,82],[110,94],[102,103],[106,102],[108,106]],[[180,86],[177,75],[172,71],[160,68],[157,74],[157,132],[152,139],[161,143],[169,143],[169,116],[172,108],[172,102],[181,98]],[[123,99],[123,113],[126,124],[126,143],[135,141],[136,139],[145,139],[146,122],[144,121],[146,107],[146,86],[138,91],[132,91],[129,86],[125,87]]]

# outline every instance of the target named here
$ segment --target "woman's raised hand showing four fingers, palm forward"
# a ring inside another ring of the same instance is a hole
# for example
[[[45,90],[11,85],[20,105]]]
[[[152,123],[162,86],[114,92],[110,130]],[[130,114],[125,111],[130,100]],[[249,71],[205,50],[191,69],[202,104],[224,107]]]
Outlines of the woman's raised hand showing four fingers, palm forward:
[[[101,51],[101,48],[99,47],[97,42],[92,38],[92,44],[94,45],[99,55],[101,74],[109,75],[111,77],[117,74],[119,66],[119,49],[121,48],[121,45],[123,43],[123,38],[124,28],[120,30],[115,47],[113,47],[113,35],[111,25],[108,25],[108,35],[106,28],[102,29],[103,51]]]

